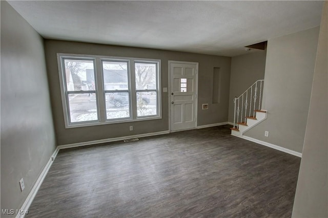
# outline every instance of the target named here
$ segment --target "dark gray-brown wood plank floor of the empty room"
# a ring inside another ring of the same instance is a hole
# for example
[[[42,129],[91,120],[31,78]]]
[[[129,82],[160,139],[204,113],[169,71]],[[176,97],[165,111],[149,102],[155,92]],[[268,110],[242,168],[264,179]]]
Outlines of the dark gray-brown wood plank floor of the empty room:
[[[291,217],[300,158],[229,127],[60,150],[26,217]]]

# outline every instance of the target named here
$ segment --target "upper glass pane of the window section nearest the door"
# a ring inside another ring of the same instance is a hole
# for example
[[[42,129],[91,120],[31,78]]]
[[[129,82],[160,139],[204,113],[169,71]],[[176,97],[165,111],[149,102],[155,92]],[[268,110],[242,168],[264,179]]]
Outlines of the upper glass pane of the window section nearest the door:
[[[137,90],[156,90],[156,63],[135,63]]]

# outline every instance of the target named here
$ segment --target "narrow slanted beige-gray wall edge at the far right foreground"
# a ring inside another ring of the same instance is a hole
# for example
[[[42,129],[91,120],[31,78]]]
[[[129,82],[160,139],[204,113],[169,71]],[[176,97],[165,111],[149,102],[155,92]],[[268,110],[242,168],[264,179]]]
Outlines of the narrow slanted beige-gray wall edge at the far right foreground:
[[[324,3],[292,217],[328,217],[328,3]]]

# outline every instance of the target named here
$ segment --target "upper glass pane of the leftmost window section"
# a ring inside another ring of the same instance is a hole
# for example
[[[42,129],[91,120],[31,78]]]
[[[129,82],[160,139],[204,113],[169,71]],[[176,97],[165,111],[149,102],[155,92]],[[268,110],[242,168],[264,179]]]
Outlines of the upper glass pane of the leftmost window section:
[[[93,60],[65,59],[68,91],[95,90]]]

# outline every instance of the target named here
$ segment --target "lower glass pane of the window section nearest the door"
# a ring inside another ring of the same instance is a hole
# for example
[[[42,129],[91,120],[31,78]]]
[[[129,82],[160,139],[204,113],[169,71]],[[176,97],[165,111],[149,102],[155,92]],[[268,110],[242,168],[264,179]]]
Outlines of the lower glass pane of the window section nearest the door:
[[[137,92],[137,116],[157,115],[156,92]]]

